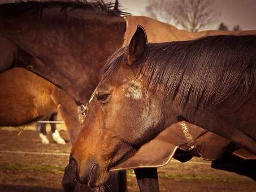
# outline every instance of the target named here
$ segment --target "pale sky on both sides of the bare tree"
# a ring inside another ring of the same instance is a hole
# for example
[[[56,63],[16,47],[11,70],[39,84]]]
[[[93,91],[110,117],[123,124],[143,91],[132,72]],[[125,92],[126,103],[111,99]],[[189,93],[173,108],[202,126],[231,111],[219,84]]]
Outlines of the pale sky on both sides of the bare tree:
[[[207,29],[218,28],[224,22],[228,28],[239,24],[242,30],[256,29],[256,0],[215,0],[220,11],[216,24]],[[148,0],[119,0],[122,8],[133,15],[144,15]]]

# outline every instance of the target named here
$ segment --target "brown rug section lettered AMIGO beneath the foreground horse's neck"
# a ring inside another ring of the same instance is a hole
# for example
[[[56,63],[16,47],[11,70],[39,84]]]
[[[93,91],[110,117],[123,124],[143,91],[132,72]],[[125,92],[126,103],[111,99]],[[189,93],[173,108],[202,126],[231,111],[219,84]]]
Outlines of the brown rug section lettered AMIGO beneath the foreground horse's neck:
[[[177,149],[180,150],[177,151]],[[181,151],[185,151],[185,154]],[[183,154],[186,157],[190,155],[190,158],[201,156],[206,160],[216,160],[227,153],[240,159],[256,160],[256,155],[240,149],[227,139],[199,126],[181,121],[164,130],[155,139],[142,146],[134,156],[116,165],[111,171],[162,167],[170,163],[173,156],[184,162],[186,160]]]

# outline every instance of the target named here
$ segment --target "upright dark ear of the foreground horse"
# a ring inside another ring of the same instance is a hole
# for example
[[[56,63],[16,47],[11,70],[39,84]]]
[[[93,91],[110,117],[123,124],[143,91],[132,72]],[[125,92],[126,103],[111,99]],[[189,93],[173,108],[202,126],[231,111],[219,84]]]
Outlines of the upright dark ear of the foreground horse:
[[[147,35],[145,29],[141,25],[138,25],[129,44],[128,63],[130,66],[144,55],[146,43]]]

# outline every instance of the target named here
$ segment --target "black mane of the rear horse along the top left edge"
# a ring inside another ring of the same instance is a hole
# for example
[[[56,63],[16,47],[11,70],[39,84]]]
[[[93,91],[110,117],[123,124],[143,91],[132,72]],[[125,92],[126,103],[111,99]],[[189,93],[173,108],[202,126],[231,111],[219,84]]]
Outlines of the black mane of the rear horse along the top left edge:
[[[102,0],[95,2],[88,2],[86,0],[52,0],[52,1],[5,1],[6,3],[0,4],[0,15],[2,16],[19,16],[28,11],[35,11],[42,14],[44,8],[59,7],[60,11],[67,12],[67,10],[94,10],[103,11],[111,16],[128,15],[120,9],[118,1],[104,2]]]

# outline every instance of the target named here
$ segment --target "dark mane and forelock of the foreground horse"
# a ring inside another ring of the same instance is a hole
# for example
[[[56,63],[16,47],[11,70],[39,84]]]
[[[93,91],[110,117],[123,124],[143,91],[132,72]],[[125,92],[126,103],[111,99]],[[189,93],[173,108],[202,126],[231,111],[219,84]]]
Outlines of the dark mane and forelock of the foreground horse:
[[[112,56],[102,80],[114,75],[127,47]],[[166,99],[179,93],[181,104],[214,107],[234,91],[240,104],[256,87],[256,36],[211,36],[192,41],[149,43],[140,62],[149,86],[162,88]]]

